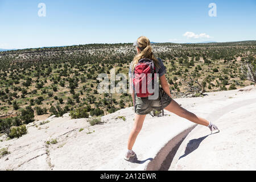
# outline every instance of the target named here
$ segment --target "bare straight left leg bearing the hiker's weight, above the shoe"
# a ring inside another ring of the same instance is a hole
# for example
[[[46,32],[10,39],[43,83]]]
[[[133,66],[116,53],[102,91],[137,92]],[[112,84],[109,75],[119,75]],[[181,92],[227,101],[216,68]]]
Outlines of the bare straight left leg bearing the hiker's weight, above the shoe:
[[[131,133],[130,133],[130,136],[129,136],[129,139],[128,139],[128,145],[127,145],[128,150],[133,149],[135,140],[136,140],[139,132],[142,129],[143,122],[144,122],[145,118],[146,118],[146,115],[135,114],[134,126],[133,126],[133,129],[131,130]]]

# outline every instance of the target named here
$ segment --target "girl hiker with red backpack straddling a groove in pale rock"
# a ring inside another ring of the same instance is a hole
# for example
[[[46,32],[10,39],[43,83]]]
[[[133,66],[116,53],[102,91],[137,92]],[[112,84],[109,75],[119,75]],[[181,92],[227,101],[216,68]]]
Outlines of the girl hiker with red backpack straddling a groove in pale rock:
[[[164,67],[161,59],[156,59],[154,56],[150,46],[150,40],[141,36],[138,38],[137,42],[134,43],[134,46],[137,48],[137,55],[131,62],[129,77],[131,84],[131,96],[133,97],[134,103],[135,119],[133,129],[131,130],[128,139],[128,151],[125,154],[125,159],[129,160],[131,157],[135,156],[135,152],[132,150],[135,140],[142,129],[146,114],[149,114],[153,109],[157,111],[165,109],[179,117],[188,119],[191,122],[207,126],[210,131],[218,130],[213,123],[204,118],[197,117],[197,115],[187,111],[172,99],[165,76],[166,67]],[[151,82],[156,80],[154,73],[158,74],[162,88],[158,89],[152,86]],[[146,81],[143,82],[143,79],[146,79]],[[150,85],[154,90],[159,90],[158,98],[153,100],[150,98],[152,93],[148,91],[148,85]]]

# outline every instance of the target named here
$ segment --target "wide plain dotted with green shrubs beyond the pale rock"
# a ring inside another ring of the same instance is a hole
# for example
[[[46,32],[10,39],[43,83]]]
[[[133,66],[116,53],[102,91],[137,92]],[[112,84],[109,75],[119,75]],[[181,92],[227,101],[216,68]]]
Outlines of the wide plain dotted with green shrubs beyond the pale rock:
[[[256,41],[159,43],[152,44],[152,48],[167,68],[174,98],[256,83]],[[33,122],[35,115],[61,117],[70,111],[72,118],[88,118],[89,114],[99,117],[132,106],[130,94],[98,93],[101,80],[97,77],[99,73],[110,77],[113,68],[115,73],[127,75],[135,54],[132,44],[0,52],[0,119],[13,117],[11,121],[0,120],[0,133]]]

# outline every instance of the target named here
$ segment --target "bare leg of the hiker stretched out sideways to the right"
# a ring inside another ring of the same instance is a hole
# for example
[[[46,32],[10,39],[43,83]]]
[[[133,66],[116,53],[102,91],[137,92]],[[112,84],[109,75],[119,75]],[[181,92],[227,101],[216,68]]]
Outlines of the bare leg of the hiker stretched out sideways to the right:
[[[209,126],[209,121],[207,121],[204,118],[197,117],[195,114],[185,110],[183,107],[181,107],[177,102],[174,100],[171,101],[170,105],[168,105],[166,108],[164,108],[176,115],[179,115],[179,117],[188,119],[189,121],[192,121],[194,123],[197,123],[199,125]]]

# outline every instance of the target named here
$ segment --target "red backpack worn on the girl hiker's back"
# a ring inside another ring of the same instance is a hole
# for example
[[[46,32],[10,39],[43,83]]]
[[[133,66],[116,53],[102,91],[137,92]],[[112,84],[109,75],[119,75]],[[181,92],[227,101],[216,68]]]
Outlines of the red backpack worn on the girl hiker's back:
[[[139,60],[133,71],[133,86],[138,97],[148,97],[154,94],[154,92],[149,92],[148,85],[151,85],[151,89],[154,90],[155,73],[156,69],[153,60]]]

